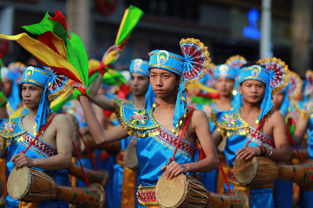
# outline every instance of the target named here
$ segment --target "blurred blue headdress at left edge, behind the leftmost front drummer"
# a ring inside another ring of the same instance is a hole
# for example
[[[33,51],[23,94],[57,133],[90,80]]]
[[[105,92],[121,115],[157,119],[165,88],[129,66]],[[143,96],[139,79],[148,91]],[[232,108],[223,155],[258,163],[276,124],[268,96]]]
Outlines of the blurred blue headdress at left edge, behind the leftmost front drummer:
[[[8,102],[10,104],[10,107],[12,107],[13,111],[16,111],[21,102],[20,90],[19,90],[18,83],[16,82],[16,80],[19,77],[19,74],[14,72],[13,70],[9,70],[9,68],[7,67],[2,67],[1,77],[8,79],[12,82],[12,89],[8,97]]]

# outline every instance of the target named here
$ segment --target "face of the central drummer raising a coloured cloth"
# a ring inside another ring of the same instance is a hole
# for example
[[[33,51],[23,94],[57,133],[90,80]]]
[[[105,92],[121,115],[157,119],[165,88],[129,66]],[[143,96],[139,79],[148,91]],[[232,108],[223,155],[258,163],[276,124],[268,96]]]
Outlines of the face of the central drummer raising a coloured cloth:
[[[150,83],[158,98],[166,98],[177,93],[179,77],[164,69],[150,69]]]

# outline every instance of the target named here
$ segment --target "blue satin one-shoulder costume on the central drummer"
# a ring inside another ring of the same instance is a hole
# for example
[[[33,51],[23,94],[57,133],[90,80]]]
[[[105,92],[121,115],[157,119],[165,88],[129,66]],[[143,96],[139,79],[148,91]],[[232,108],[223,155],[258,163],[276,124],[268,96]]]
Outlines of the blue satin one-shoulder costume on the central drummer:
[[[130,128],[130,135],[137,136],[136,152],[139,166],[137,198],[141,206],[157,207],[155,196],[156,183],[162,175],[161,167],[172,157],[179,137],[156,123],[153,117],[154,108],[132,110],[121,106],[121,125]],[[198,161],[196,143],[182,139],[175,161],[179,164]]]

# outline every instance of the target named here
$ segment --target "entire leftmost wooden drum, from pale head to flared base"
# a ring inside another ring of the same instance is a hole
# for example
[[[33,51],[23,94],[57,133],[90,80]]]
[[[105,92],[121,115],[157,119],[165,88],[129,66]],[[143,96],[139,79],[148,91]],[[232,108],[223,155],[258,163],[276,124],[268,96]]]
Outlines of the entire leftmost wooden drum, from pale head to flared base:
[[[44,172],[26,166],[12,169],[7,189],[12,199],[23,202],[41,203],[57,199],[80,208],[103,208],[106,200],[104,189],[99,184],[90,184],[86,188],[61,186]]]

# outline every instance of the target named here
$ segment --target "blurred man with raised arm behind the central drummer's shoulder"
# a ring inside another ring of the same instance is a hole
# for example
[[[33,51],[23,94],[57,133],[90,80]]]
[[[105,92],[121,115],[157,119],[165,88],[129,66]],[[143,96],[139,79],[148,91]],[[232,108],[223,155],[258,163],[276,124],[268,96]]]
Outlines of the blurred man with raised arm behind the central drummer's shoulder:
[[[111,50],[115,49],[114,47],[116,46],[112,46],[108,49],[106,54],[103,56],[103,60]],[[129,72],[131,75],[129,82],[131,95],[128,97],[128,99],[120,99],[117,96],[109,99],[104,94],[97,94],[102,81],[102,76],[99,75],[89,87],[90,100],[101,108],[114,111],[116,114],[119,113],[119,108],[121,105],[133,110],[152,107],[156,99],[156,94],[153,92],[149,83],[148,64],[149,62],[142,59],[134,59],[131,61],[129,67]],[[115,125],[117,124],[115,123]],[[113,174],[111,174],[113,189],[112,198],[110,201],[113,202],[113,204],[111,203],[112,206],[110,207],[134,207],[136,204],[136,200],[134,200],[134,198],[135,189],[138,186],[136,186],[138,183],[138,180],[136,180],[138,176],[136,170],[132,170],[125,166],[123,157],[126,147],[129,145],[135,145],[135,142],[125,138],[120,141],[120,144],[121,151],[117,156],[117,163],[113,167]],[[117,202],[121,202],[121,204],[118,204]]]

